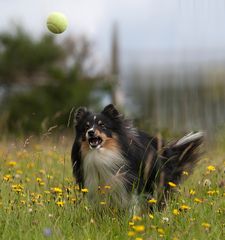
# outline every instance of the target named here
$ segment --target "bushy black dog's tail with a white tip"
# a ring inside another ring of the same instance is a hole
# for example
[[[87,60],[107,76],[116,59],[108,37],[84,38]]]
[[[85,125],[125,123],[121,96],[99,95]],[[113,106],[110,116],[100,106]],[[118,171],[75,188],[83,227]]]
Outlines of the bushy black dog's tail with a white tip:
[[[199,148],[203,138],[203,132],[189,133],[164,147],[159,183],[164,189],[164,194],[170,192],[183,177],[192,172],[201,154]]]

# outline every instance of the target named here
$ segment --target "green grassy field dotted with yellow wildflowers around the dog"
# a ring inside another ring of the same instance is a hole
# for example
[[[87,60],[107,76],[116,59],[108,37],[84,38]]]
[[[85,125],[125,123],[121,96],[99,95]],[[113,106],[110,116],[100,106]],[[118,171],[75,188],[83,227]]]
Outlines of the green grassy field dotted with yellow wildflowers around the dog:
[[[223,143],[173,186],[164,211],[139,215],[109,209],[107,201],[88,204],[88,189],[74,184],[71,145],[66,138],[1,142],[0,239],[225,239]]]

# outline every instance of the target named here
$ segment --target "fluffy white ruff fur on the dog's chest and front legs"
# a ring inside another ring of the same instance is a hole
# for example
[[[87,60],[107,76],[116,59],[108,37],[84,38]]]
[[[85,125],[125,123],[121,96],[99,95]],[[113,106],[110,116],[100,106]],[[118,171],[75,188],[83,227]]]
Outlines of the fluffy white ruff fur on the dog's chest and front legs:
[[[110,186],[110,200],[114,204],[126,206],[128,193],[125,187],[124,167],[126,160],[119,151],[105,148],[92,149],[84,156],[84,183],[91,201],[98,198],[99,186]]]

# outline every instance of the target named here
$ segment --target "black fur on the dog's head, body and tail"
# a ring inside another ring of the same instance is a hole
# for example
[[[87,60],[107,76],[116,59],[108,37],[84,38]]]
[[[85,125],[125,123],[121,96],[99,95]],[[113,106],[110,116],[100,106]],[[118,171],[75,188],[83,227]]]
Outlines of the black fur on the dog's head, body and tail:
[[[158,192],[158,203],[162,205],[171,190],[168,182],[179,184],[183,171],[190,173],[198,160],[199,146],[203,141],[200,133],[190,135],[195,137],[189,140],[187,138],[186,141],[178,140],[165,145],[159,138],[133,128],[131,122],[124,119],[112,104],[99,114],[79,108],[75,114],[76,137],[72,148],[72,166],[80,187],[85,187],[81,143],[86,141],[86,123],[94,124],[94,115],[96,121],[100,119],[104,122],[104,127],[99,127],[101,131],[109,138],[113,135],[117,137],[120,152],[127,161],[121,171],[127,180],[125,187],[128,193],[136,190],[138,194],[151,198],[154,192]]]

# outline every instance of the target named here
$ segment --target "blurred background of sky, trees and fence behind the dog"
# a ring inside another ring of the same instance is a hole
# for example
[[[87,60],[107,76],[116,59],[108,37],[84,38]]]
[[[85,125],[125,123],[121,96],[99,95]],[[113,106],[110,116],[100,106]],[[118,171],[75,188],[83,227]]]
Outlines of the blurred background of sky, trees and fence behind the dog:
[[[0,131],[72,132],[113,102],[164,135],[225,129],[224,0],[0,1]],[[64,13],[60,35],[46,28]]]

